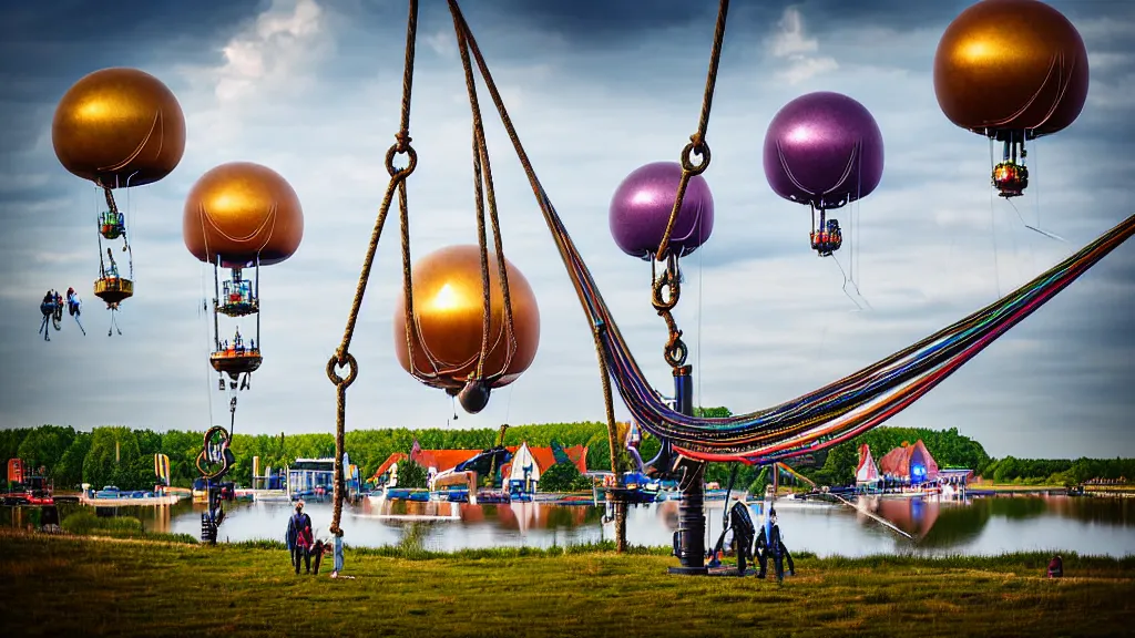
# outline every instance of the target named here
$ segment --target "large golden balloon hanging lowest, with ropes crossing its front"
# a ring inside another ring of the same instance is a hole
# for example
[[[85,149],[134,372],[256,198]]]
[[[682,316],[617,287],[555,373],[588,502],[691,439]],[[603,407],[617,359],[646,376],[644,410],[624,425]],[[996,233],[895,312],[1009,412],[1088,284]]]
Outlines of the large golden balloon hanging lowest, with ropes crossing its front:
[[[413,268],[414,318],[419,341],[414,344],[414,367],[432,373],[435,364],[446,372],[444,378],[429,383],[456,392],[477,371],[481,351],[481,330],[485,301],[481,288],[480,249],[459,245],[442,249],[420,259]],[[528,279],[505,259],[508,274],[508,296],[512,300],[514,337],[512,361],[506,369],[508,329],[504,316],[504,295],[501,289],[496,255],[489,251],[489,352],[485,358],[485,376],[504,371],[493,387],[502,387],[520,378],[532,364],[540,343],[540,311]],[[407,372],[405,296],[398,294],[394,312],[394,350],[398,363]],[[411,331],[413,335],[413,331]]]

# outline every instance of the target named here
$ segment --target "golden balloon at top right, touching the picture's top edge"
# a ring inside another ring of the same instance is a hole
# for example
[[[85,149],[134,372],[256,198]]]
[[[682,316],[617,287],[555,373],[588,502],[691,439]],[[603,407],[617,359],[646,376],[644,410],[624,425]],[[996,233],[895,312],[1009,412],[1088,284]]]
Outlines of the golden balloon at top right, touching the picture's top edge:
[[[984,0],[947,27],[934,92],[953,124],[985,134],[1066,128],[1087,99],[1087,51],[1076,27],[1039,0]]]

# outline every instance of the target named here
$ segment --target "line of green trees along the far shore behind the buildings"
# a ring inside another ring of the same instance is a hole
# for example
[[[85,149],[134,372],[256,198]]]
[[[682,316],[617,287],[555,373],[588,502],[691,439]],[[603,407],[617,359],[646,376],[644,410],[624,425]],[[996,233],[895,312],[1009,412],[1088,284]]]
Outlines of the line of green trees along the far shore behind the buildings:
[[[725,417],[725,408],[699,410],[706,417]],[[627,430],[620,425],[616,461],[620,471],[631,470],[631,460],[622,445]],[[44,468],[47,476],[57,488],[73,489],[83,482],[95,488],[116,485],[123,489],[149,489],[155,481],[153,455],[169,456],[171,485],[190,487],[199,477],[195,461],[201,452],[203,433],[169,430],[157,433],[150,429],[125,427],[100,427],[92,431],[76,430],[69,426],[41,426],[0,430],[0,459],[23,459],[28,468]],[[462,448],[484,450],[497,444],[499,431],[484,429],[418,429],[393,428],[381,430],[353,430],[346,434],[346,451],[351,462],[359,465],[365,479],[395,452],[409,453],[414,439],[422,450]],[[859,445],[866,443],[876,463],[884,454],[902,445],[922,439],[942,468],[969,468],[977,476],[997,482],[1010,481],[1056,481],[1057,484],[1082,484],[1093,478],[1135,479],[1135,459],[993,459],[982,445],[958,434],[957,428],[931,430],[923,428],[881,427],[855,439],[835,445],[814,455],[804,463],[789,464],[804,476],[821,485],[847,485],[855,480],[858,465]],[[549,446],[555,440],[564,447],[587,446],[587,467],[591,470],[611,470],[611,445],[606,423],[585,421],[573,423],[543,423],[510,427],[505,433],[505,445],[527,442],[532,446]],[[644,461],[657,454],[661,445],[657,438],[646,435],[639,447]],[[274,471],[293,463],[296,459],[319,459],[335,455],[335,437],[331,434],[243,435],[234,437],[232,450],[236,464],[230,477],[238,485],[251,485],[252,459],[260,457],[260,471]],[[709,463],[706,480],[717,481],[722,487],[729,481],[734,465]],[[768,472],[755,465],[737,467],[734,489],[763,487],[771,480]]]

